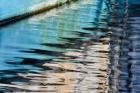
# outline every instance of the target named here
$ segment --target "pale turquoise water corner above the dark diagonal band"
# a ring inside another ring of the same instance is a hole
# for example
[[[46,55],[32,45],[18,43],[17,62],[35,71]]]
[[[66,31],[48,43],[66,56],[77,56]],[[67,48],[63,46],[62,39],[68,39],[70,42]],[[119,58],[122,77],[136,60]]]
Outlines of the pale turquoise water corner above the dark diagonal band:
[[[0,19],[29,11],[32,5],[48,0],[0,0]]]

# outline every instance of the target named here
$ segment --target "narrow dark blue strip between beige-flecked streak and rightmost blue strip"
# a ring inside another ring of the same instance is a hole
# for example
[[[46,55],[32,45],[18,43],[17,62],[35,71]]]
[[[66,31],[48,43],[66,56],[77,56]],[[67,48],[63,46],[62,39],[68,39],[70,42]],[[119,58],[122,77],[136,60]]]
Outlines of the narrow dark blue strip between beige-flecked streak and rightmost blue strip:
[[[127,21],[128,21],[128,0],[124,1],[119,1],[120,4],[123,6],[122,8],[124,9],[124,16],[123,16],[123,22],[122,22],[122,28],[123,28],[123,33],[122,33],[122,40],[120,44],[120,60],[119,60],[119,70],[120,70],[120,75],[119,75],[119,92],[120,93],[130,93],[131,88],[131,64],[130,64],[130,57],[128,55],[130,51],[130,30],[128,29]]]

